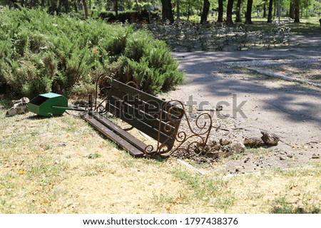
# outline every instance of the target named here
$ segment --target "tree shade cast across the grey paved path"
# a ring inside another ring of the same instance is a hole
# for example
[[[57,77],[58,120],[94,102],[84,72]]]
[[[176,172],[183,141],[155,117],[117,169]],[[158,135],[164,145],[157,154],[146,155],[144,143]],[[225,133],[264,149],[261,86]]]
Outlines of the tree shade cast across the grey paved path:
[[[307,54],[307,53],[306,53]],[[319,53],[315,53],[318,55]],[[223,64],[235,58],[238,60],[250,60],[260,56],[264,58],[305,58],[302,53],[282,53],[274,51],[266,53],[175,53],[174,56],[180,58],[180,68],[185,71],[187,81],[193,81],[193,85],[200,88],[206,97],[226,98],[231,94],[246,93],[250,98],[258,96],[262,103],[260,107],[266,111],[282,113],[282,118],[297,121],[313,121],[321,126],[321,93],[320,89],[312,86],[302,86],[297,83],[282,83],[277,88],[265,86],[263,81],[273,81],[264,76],[253,77],[240,80],[239,78],[222,78],[215,76],[215,72],[227,71],[227,66]],[[233,58],[234,56],[234,58]],[[182,58],[183,57],[183,58]],[[227,73],[228,74],[228,73]],[[188,86],[188,83],[185,85]],[[245,110],[246,111],[246,110]]]

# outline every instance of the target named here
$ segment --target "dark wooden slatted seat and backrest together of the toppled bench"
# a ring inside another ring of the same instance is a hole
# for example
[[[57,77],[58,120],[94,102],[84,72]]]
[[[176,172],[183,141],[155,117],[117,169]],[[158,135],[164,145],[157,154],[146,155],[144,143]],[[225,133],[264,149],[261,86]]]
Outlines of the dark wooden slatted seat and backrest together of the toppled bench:
[[[107,80],[110,86],[104,100],[106,103],[96,106],[81,117],[135,157],[169,152],[175,143],[185,110],[176,106],[173,101],[161,100],[113,78],[108,77]],[[104,113],[111,113],[133,128],[141,130],[156,140],[157,146],[146,145],[104,117]]]

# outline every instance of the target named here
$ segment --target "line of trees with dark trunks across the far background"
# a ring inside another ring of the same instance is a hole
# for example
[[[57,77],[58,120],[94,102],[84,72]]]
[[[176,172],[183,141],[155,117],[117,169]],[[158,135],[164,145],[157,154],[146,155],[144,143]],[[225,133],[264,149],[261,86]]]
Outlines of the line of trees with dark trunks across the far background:
[[[1,5],[47,9],[50,14],[82,14],[83,17],[98,17],[101,13],[124,11],[153,11],[170,22],[176,19],[228,23],[252,23],[252,16],[267,16],[271,22],[277,16],[278,0],[0,0]],[[282,16],[300,22],[302,16],[320,16],[321,0],[280,0]],[[109,14],[108,14],[109,15]]]

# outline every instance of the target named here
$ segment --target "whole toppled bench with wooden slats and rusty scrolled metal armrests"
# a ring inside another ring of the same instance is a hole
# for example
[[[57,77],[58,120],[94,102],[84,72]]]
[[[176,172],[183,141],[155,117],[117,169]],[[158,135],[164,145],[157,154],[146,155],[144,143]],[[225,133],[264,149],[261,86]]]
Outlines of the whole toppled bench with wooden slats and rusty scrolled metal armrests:
[[[134,85],[133,88],[129,85]],[[98,88],[101,87],[99,90]],[[135,157],[171,155],[178,150],[189,151],[192,145],[205,146],[212,129],[212,118],[208,113],[202,113],[195,119],[192,127],[185,108],[179,100],[165,101],[137,89],[134,82],[121,83],[103,73],[96,81],[96,94],[88,108],[88,113],[82,118],[91,123],[107,138],[131,153]],[[99,93],[98,93],[99,90]],[[103,100],[98,102],[98,97]],[[156,140],[156,146],[146,145],[133,135],[119,128],[103,115],[111,113],[117,118],[129,123],[132,128]],[[138,117],[136,116],[138,115]],[[185,130],[179,130],[180,122],[185,119],[190,135]],[[203,118],[205,122],[200,123]],[[183,144],[187,145],[183,145]]]

